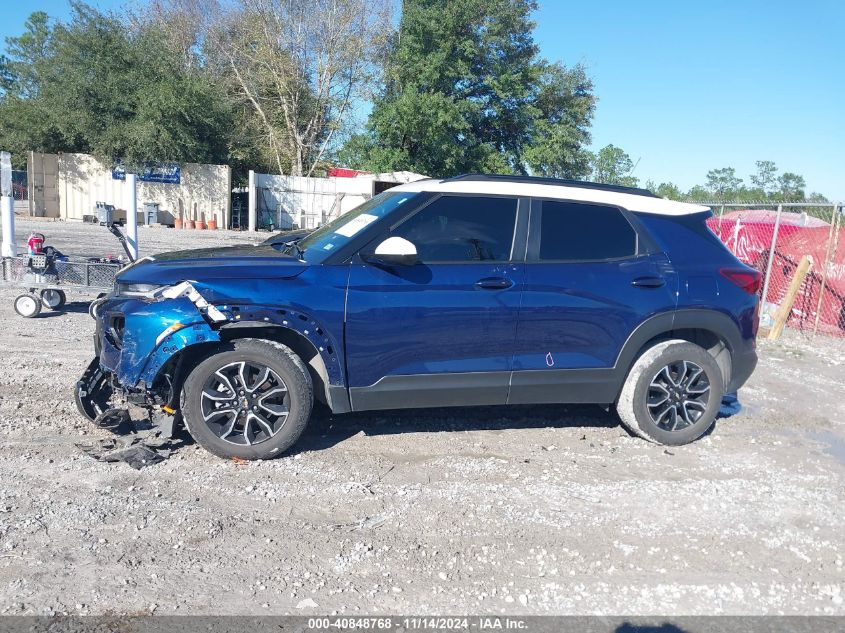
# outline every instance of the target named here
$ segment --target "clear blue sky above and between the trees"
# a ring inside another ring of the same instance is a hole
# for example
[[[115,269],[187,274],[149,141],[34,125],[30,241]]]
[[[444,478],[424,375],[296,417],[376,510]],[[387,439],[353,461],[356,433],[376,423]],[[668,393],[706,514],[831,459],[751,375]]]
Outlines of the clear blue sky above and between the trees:
[[[6,0],[0,36],[66,0]],[[125,2],[100,0],[101,8]],[[618,145],[642,181],[683,189],[709,169],[755,160],[845,200],[845,2],[841,0],[540,0],[547,59],[586,65],[599,98],[594,148]]]

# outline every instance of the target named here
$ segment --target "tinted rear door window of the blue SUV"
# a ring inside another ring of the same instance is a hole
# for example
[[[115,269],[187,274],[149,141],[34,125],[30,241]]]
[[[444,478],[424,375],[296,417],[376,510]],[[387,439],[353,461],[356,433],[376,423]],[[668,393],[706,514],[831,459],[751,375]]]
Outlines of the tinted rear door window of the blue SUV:
[[[540,259],[588,261],[633,257],[637,234],[619,209],[543,201]]]

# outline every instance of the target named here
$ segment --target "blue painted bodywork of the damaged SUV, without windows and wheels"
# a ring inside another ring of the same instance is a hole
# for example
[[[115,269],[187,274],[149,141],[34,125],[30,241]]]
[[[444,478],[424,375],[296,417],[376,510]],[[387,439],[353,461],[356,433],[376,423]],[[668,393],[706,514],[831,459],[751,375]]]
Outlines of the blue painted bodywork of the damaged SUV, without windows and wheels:
[[[320,264],[265,244],[157,256],[129,268],[119,283],[188,280],[220,316],[211,318],[212,308],[185,296],[110,297],[98,317],[101,367],[123,388],[143,392],[187,349],[228,340],[241,328],[290,331],[316,350],[328,404],[338,413],[611,404],[646,346],[684,332],[712,333],[726,350],[728,391],[753,371],[757,297],[719,275],[720,267],[739,263],[701,230],[700,209],[635,197],[642,209],[653,203],[672,213],[621,209],[638,235],[633,256],[539,261],[532,242],[539,199],[522,196],[509,261],[393,267],[365,261],[365,247],[442,195],[427,186],[406,186],[423,193]],[[496,195],[514,197],[501,189]],[[592,193],[581,195],[587,200]],[[609,193],[602,204],[629,197]]]

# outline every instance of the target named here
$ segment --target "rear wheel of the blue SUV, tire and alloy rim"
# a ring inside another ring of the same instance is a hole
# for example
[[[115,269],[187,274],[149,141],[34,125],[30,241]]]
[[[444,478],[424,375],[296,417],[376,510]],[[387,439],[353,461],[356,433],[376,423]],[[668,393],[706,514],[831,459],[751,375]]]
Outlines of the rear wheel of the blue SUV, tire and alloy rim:
[[[680,339],[662,341],[631,367],[616,411],[635,435],[669,446],[689,444],[715,422],[724,384],[707,350]]]

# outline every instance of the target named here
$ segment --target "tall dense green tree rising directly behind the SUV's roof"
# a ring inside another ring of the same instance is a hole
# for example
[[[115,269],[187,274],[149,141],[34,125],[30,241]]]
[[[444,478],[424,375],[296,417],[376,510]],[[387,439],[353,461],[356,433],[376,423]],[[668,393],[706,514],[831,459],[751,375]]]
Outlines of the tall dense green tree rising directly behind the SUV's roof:
[[[588,173],[595,99],[580,66],[538,58],[533,0],[406,0],[385,86],[350,166],[435,176]]]

